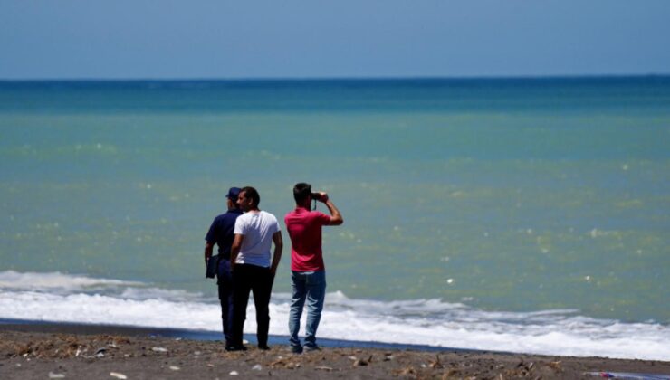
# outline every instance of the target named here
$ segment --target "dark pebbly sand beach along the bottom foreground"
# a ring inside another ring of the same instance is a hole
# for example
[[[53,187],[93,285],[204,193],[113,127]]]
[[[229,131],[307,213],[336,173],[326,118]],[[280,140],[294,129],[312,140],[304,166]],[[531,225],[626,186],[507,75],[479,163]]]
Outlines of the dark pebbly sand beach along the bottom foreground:
[[[667,375],[670,362],[403,348],[324,347],[292,355],[252,344],[165,337],[150,329],[81,325],[0,325],[3,379],[597,378],[590,372]]]

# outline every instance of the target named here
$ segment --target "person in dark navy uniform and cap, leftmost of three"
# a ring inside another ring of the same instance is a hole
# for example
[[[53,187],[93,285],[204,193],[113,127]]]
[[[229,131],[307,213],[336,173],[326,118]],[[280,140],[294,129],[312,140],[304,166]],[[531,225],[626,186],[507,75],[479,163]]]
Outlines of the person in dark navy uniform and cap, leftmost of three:
[[[216,277],[221,301],[221,320],[224,330],[225,347],[230,347],[233,339],[233,275],[230,269],[230,249],[235,240],[235,221],[242,215],[237,205],[238,187],[231,187],[225,195],[228,211],[215,217],[205,237],[205,267],[210,260],[218,260]],[[218,256],[212,259],[214,244],[218,245]],[[216,264],[216,263],[213,263]]]

